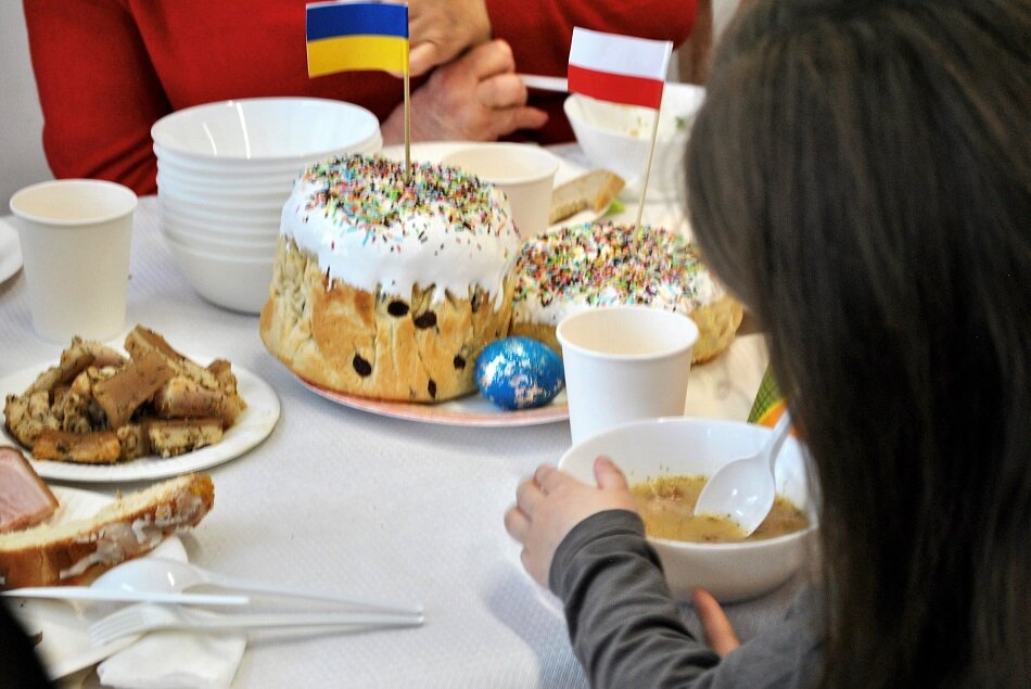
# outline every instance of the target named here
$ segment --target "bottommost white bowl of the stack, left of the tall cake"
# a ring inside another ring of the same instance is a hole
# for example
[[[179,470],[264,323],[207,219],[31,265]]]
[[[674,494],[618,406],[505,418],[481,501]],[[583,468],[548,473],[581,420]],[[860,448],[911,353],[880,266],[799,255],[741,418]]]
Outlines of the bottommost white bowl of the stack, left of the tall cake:
[[[184,246],[165,235],[165,244],[198,294],[218,306],[258,314],[268,299],[272,257],[228,258]]]

